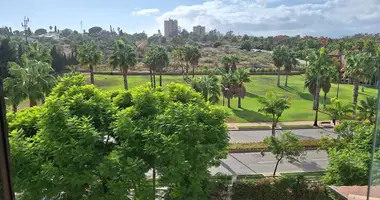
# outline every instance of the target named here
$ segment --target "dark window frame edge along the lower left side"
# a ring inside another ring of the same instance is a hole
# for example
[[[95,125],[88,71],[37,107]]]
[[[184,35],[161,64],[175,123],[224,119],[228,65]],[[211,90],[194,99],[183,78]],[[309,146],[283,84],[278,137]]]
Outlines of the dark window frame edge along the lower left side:
[[[8,123],[6,119],[5,93],[3,89],[3,77],[5,63],[0,62],[0,178],[1,193],[4,200],[15,200],[10,173],[10,154],[8,141]]]

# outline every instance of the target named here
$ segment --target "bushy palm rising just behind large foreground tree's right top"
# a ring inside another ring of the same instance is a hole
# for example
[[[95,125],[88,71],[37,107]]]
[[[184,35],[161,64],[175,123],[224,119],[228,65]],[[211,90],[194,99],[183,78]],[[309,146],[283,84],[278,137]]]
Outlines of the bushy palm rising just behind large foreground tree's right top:
[[[195,91],[202,94],[205,101],[210,101],[213,104],[219,102],[220,87],[217,76],[209,74],[208,76],[194,78],[191,86]]]

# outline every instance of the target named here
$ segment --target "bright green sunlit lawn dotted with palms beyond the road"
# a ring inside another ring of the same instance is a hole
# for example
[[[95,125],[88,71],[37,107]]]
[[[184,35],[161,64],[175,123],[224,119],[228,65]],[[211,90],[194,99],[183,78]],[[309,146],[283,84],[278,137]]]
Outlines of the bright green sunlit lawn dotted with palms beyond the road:
[[[158,76],[156,76],[158,84]],[[277,87],[277,76],[273,75],[254,75],[251,76],[251,82],[246,84],[247,96],[242,100],[242,109],[237,108],[237,99],[231,100],[231,109],[228,109],[230,116],[228,122],[263,122],[270,121],[270,118],[257,110],[260,108],[258,98],[263,96],[267,91],[273,90],[279,94],[286,95],[291,98],[291,107],[283,113],[280,121],[312,121],[314,120],[315,112],[312,107],[312,96],[307,89],[304,89],[303,75],[290,76],[288,87]],[[149,76],[128,76],[129,88],[133,88],[150,81]],[[281,77],[281,84],[283,85],[285,76]],[[182,76],[163,76],[163,84],[169,82],[184,83]],[[110,75],[95,75],[95,85],[105,90],[117,90],[123,88],[122,76]],[[339,98],[344,103],[352,102],[353,94],[352,85],[341,85]],[[359,93],[359,100],[366,96],[375,96],[376,89],[365,88],[365,92]],[[336,85],[334,84],[328,93],[329,98],[336,95]],[[321,92],[321,105],[322,107],[323,93]],[[222,99],[219,102],[222,105]],[[324,114],[319,114],[319,120],[327,120],[329,117]]]

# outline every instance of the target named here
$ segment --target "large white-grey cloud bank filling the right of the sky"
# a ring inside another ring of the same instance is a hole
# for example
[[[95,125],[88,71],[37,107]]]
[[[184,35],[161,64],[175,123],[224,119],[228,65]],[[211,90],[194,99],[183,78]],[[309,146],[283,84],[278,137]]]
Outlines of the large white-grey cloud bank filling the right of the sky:
[[[207,30],[253,35],[309,34],[342,36],[359,32],[378,32],[380,0],[307,0],[286,5],[284,0],[209,0],[202,4],[177,6],[157,17],[160,27],[168,18],[192,30],[205,25]]]

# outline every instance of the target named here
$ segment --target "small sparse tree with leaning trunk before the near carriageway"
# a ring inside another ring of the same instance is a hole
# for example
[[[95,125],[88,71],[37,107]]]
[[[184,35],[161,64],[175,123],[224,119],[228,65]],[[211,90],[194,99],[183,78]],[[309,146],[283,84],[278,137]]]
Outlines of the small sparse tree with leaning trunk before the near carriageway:
[[[305,155],[304,147],[299,137],[291,131],[282,133],[277,137],[266,137],[264,139],[264,143],[268,145],[269,151],[276,157],[277,160],[273,177],[276,177],[277,167],[282,159],[286,158],[288,162],[294,162],[302,159]]]

